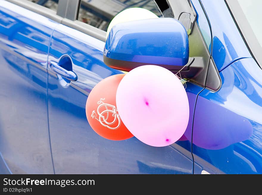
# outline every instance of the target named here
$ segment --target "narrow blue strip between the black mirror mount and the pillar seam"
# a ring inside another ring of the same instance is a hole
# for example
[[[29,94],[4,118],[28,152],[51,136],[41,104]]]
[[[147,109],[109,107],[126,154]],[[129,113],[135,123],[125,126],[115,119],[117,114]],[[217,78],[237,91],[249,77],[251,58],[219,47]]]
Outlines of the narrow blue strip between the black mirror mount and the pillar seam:
[[[199,29],[202,33],[202,36],[205,40],[205,43],[207,44],[207,47],[209,49],[209,52],[211,54],[212,51],[212,35],[211,35],[211,30],[210,30],[210,26],[208,24],[208,20],[205,16],[205,12],[203,11],[199,0],[191,0],[192,5],[196,11],[197,14],[197,18],[196,18],[196,22],[199,26]]]

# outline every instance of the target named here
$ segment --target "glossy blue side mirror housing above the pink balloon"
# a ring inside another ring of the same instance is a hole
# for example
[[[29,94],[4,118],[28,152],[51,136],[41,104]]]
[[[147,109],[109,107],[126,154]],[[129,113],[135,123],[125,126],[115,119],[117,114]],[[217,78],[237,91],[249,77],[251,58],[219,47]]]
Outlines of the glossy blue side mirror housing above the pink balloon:
[[[180,70],[188,63],[188,58],[187,32],[174,18],[116,24],[104,48],[105,64],[124,71],[147,64]]]

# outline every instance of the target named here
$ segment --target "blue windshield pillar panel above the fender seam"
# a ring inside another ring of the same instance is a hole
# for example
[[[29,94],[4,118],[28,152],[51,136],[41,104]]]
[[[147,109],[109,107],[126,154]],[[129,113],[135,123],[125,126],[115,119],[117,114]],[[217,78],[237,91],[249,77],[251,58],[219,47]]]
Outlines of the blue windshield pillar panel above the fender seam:
[[[212,31],[212,56],[219,71],[233,61],[252,57],[223,0],[201,0]]]

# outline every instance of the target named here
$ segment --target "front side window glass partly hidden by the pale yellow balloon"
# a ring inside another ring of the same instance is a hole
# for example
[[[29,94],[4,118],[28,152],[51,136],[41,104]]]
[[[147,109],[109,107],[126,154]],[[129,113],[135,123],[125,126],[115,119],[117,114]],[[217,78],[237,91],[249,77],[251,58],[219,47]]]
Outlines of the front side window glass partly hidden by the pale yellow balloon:
[[[154,0],[81,0],[77,20],[107,31],[110,21],[131,7],[141,7],[163,17]]]

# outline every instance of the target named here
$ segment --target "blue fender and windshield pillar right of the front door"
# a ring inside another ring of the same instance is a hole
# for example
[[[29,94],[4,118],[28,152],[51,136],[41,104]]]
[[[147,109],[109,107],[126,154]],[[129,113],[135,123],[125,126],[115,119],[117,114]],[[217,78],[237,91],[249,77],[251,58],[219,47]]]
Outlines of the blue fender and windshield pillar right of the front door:
[[[237,1],[230,2],[233,10],[241,12]],[[244,7],[256,6],[242,2]],[[192,136],[194,173],[205,169],[209,173],[261,174],[261,67],[250,54],[226,2],[202,0],[202,6],[209,18],[212,56],[222,85],[217,92],[204,89],[197,98]],[[249,29],[244,17],[239,22]]]

